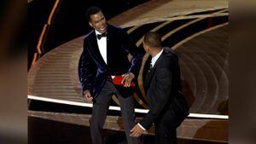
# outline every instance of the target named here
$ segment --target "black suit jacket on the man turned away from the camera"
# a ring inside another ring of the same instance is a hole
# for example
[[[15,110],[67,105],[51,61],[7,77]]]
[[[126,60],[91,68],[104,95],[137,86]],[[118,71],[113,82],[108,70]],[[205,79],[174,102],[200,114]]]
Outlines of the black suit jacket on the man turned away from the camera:
[[[151,56],[145,63],[143,86],[148,96],[149,111],[140,122],[145,129],[165,123],[177,128],[189,114],[188,103],[181,94],[180,68],[177,55],[170,48],[163,48],[154,67],[148,72]]]

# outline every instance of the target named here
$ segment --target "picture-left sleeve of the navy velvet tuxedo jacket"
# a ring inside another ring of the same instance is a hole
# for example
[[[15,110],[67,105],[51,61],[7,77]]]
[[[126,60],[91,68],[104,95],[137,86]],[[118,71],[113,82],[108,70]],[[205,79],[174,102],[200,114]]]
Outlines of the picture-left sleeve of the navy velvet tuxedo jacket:
[[[84,50],[81,55],[80,61],[80,83],[82,85],[82,95],[84,90],[89,89],[92,90],[95,75],[96,75],[96,63],[92,60],[90,53],[88,51],[88,47],[84,42]]]

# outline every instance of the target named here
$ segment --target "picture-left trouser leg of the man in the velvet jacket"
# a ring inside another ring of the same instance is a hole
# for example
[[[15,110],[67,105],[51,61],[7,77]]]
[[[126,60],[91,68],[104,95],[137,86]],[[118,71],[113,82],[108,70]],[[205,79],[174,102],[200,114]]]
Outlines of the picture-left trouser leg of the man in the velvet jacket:
[[[90,118],[90,135],[93,144],[104,144],[103,126],[107,118],[109,101],[113,95],[113,87],[106,82],[101,93],[96,97]]]

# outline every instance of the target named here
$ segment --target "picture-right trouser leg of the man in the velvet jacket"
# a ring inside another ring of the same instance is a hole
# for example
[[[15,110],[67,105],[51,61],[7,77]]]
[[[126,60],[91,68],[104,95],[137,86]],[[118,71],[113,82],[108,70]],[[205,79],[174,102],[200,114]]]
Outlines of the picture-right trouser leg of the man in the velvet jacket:
[[[120,101],[121,113],[127,142],[128,144],[138,144],[140,139],[130,136],[130,130],[134,127],[134,125],[137,124],[134,112],[134,99],[132,96],[124,98],[119,94],[118,98]]]

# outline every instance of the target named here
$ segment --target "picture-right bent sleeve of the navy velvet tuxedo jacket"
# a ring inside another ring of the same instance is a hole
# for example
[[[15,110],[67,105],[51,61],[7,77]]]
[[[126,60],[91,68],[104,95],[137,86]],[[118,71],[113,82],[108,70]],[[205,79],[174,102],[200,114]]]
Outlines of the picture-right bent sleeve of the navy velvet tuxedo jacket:
[[[143,60],[143,50],[137,48],[136,44],[132,41],[131,37],[128,35],[125,30],[122,29],[122,41],[123,41],[123,48],[132,55],[131,58],[131,66],[129,72],[132,72],[135,77],[137,78],[138,73],[140,71],[142,60]]]

